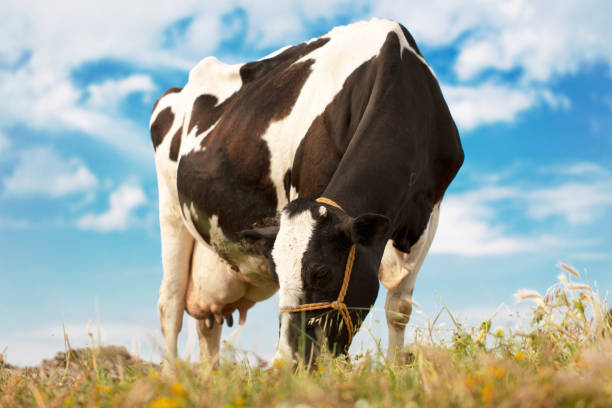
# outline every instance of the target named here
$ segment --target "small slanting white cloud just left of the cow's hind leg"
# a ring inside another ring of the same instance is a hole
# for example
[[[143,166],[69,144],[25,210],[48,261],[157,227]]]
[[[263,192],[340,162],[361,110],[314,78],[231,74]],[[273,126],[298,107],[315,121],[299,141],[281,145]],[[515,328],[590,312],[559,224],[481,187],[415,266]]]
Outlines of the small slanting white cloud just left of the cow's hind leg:
[[[95,231],[124,230],[133,221],[132,212],[146,202],[142,188],[133,183],[125,183],[111,193],[109,208],[101,214],[85,214],[77,226]]]

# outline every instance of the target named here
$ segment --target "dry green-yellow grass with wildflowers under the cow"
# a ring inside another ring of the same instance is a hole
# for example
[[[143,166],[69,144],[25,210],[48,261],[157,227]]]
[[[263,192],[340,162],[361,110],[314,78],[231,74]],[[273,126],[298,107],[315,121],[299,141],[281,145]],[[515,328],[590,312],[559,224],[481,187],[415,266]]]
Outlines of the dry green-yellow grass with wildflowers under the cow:
[[[0,358],[0,407],[610,407],[612,315],[575,281],[578,272],[560,267],[544,296],[517,292],[534,305],[526,329],[456,323],[452,336],[434,340],[434,324],[407,347],[407,364],[373,351],[323,355],[314,367],[180,362],[165,377],[125,349],[67,343],[66,353],[33,369]]]

